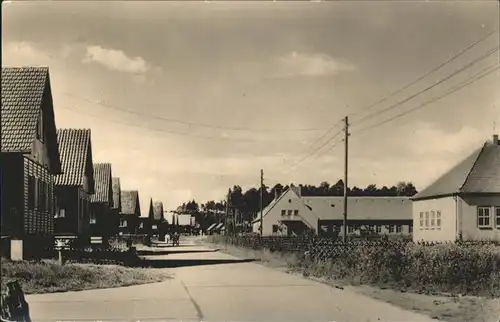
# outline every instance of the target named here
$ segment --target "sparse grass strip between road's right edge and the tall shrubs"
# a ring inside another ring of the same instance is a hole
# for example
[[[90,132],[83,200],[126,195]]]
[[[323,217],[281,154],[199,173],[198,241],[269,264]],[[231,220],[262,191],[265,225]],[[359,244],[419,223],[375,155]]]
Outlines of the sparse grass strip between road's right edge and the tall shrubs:
[[[269,250],[252,250],[206,239],[210,247],[242,258],[255,258],[263,265],[298,274],[339,288],[350,289],[366,296],[391,303],[403,309],[418,312],[448,322],[500,322],[500,298],[460,296],[451,294],[425,294],[401,290],[390,284],[361,285],[362,278],[332,278],[325,264],[304,265],[295,254],[282,254]],[[304,267],[306,266],[306,267]]]

